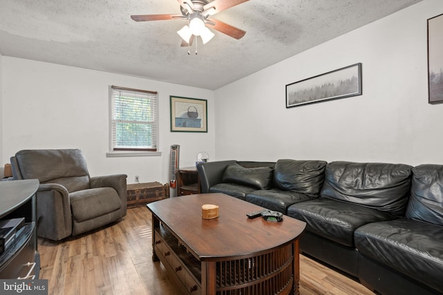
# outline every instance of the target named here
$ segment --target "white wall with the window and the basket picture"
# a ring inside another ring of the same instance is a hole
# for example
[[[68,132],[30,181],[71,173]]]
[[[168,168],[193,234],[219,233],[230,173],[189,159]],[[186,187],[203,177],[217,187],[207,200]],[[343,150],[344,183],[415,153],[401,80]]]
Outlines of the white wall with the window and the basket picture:
[[[126,173],[128,183],[135,175],[166,183],[171,144],[181,146],[181,166],[195,165],[199,151],[215,153],[213,91],[14,57],[3,57],[2,68],[2,163],[21,149],[78,148],[91,176]],[[159,92],[161,156],[106,157],[110,85]],[[171,133],[170,95],[208,99],[208,133]]]

